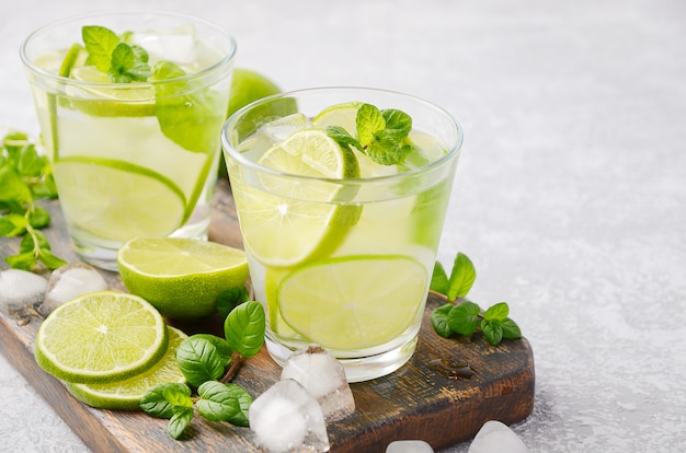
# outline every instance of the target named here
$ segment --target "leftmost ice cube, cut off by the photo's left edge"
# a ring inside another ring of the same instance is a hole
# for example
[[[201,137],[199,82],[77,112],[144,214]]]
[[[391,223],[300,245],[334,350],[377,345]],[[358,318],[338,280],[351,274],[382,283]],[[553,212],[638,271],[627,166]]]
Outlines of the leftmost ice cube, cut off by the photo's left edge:
[[[34,307],[43,302],[47,279],[20,269],[0,271],[0,311],[11,317],[23,317],[25,306]]]

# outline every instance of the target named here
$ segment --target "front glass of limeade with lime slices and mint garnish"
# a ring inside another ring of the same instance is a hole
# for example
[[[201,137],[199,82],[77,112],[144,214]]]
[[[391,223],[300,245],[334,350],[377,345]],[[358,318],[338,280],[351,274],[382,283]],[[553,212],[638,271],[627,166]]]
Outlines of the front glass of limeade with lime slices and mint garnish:
[[[393,160],[373,159],[392,129],[407,127],[398,111],[412,121],[409,136],[390,137],[400,153],[390,147]],[[361,132],[358,121],[367,124]],[[376,135],[365,132],[369,124]],[[362,151],[334,140],[336,130]],[[322,88],[250,104],[221,138],[274,360],[283,364],[317,344],[343,363],[350,382],[400,368],[418,341],[460,126],[410,95]]]

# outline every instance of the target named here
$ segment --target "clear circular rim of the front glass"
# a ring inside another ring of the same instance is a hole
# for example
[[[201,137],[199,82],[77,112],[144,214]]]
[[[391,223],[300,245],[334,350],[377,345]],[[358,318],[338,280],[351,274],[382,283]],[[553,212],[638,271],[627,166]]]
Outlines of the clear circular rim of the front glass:
[[[411,100],[413,102],[416,102],[419,104],[422,104],[428,108],[431,108],[432,111],[434,111],[435,113],[443,115],[445,118],[447,118],[450,124],[455,127],[455,132],[456,132],[456,137],[455,137],[455,143],[448,144],[448,152],[441,156],[439,159],[436,159],[435,161],[432,161],[430,163],[427,163],[426,165],[422,165],[420,167],[416,169],[412,169],[409,170],[407,172],[403,173],[396,173],[396,174],[391,174],[391,175],[382,175],[382,176],[373,176],[373,177],[357,177],[357,178],[331,178],[331,177],[318,177],[318,176],[308,176],[308,175],[298,175],[295,173],[287,173],[287,172],[282,172],[278,170],[274,170],[274,169],[270,169],[268,166],[264,166],[259,164],[256,161],[253,161],[251,159],[245,158],[244,153],[238,152],[236,150],[236,148],[233,148],[233,146],[230,143],[229,141],[229,129],[232,128],[232,126],[236,124],[236,121],[238,120],[239,117],[243,116],[248,111],[268,103],[271,101],[277,100],[277,98],[285,98],[288,96],[294,96],[294,95],[298,95],[298,94],[307,94],[307,93],[317,93],[317,92],[331,92],[331,91],[363,91],[363,92],[369,92],[369,93],[381,93],[381,94],[388,94],[388,95],[392,95],[392,96],[401,96],[404,97],[405,100]],[[368,88],[368,86],[354,86],[354,85],[338,85],[338,86],[317,86],[317,88],[309,88],[309,89],[300,89],[300,90],[293,90],[293,91],[287,91],[287,92],[283,92],[283,93],[276,93],[276,94],[272,94],[270,96],[265,96],[262,97],[258,101],[253,101],[250,104],[239,108],[238,111],[236,111],[224,124],[224,126],[221,127],[221,144],[222,148],[226,152],[228,152],[240,165],[243,165],[250,170],[253,171],[258,171],[261,173],[265,173],[265,174],[270,174],[273,176],[278,176],[278,177],[284,177],[284,178],[293,178],[293,179],[298,179],[298,181],[319,181],[319,182],[327,182],[327,183],[332,183],[332,184],[341,184],[341,182],[345,182],[347,183],[352,183],[352,184],[371,184],[371,183],[384,183],[384,182],[389,182],[389,181],[395,181],[395,179],[404,179],[408,177],[412,177],[419,174],[424,174],[427,172],[431,172],[433,169],[436,167],[441,167],[443,166],[445,163],[449,162],[450,160],[457,158],[460,153],[460,150],[462,148],[462,142],[464,142],[464,130],[461,125],[459,124],[459,121],[445,108],[430,102],[426,101],[422,97],[419,96],[414,96],[412,94],[407,94],[403,92],[399,92],[399,91],[393,91],[393,90],[386,90],[386,89],[376,89],[376,88]]]

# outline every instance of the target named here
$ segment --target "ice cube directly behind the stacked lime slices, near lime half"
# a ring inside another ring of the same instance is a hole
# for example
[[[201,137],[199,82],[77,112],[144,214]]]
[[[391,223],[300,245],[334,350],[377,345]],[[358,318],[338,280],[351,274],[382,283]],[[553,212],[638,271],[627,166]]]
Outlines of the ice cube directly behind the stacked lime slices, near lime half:
[[[107,282],[94,267],[70,263],[53,271],[45,291],[45,301],[38,313],[47,316],[62,303],[93,291],[104,291]]]

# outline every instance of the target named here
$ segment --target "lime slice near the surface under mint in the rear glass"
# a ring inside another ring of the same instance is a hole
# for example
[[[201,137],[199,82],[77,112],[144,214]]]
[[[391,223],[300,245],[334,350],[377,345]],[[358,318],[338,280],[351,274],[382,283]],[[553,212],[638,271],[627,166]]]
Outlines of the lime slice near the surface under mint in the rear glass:
[[[155,89],[147,83],[113,83],[94,66],[71,68],[69,77],[83,83],[68,86],[73,105],[93,116],[152,116]]]

